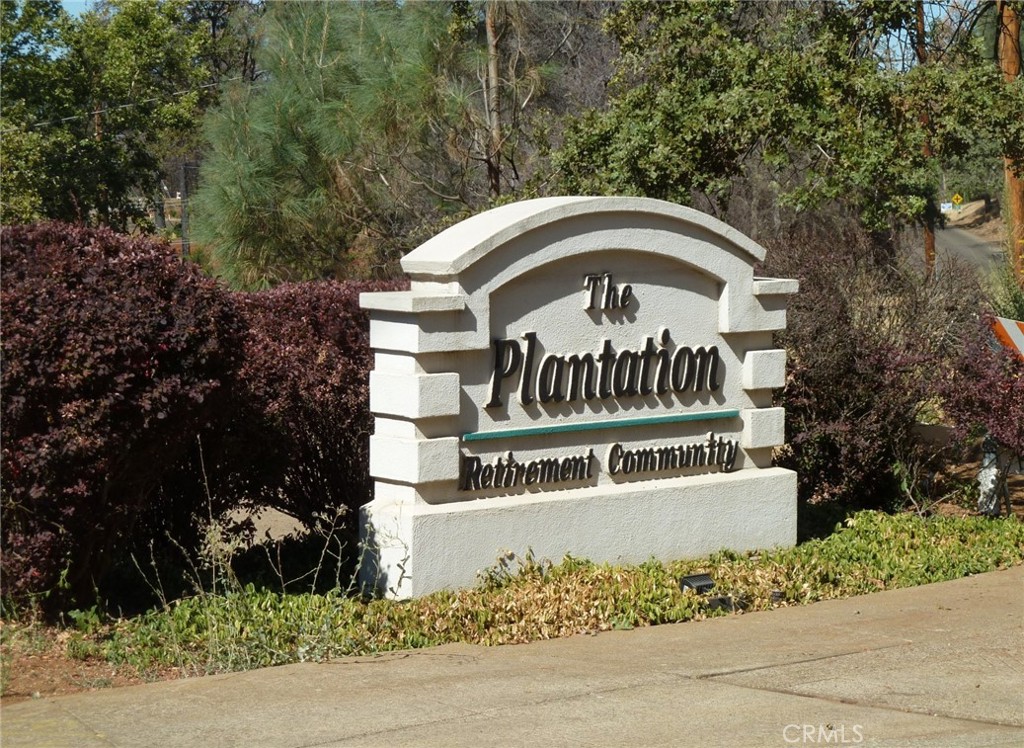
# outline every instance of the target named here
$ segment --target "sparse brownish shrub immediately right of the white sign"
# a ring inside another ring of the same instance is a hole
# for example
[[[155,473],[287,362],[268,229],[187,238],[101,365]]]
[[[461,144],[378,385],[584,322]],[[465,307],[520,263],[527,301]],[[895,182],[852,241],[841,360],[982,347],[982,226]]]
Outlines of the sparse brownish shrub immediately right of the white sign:
[[[980,305],[963,268],[926,280],[855,227],[803,228],[769,246],[768,272],[800,279],[788,351],[786,450],[800,497],[877,508],[900,469],[927,461],[913,428]]]

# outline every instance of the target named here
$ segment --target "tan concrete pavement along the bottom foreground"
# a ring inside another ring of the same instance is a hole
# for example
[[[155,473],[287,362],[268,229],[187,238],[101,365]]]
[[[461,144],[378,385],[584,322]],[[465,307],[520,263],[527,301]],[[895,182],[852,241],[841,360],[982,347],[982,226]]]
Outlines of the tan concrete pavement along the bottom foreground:
[[[822,744],[1024,746],[1024,567],[697,623],[2,710],[4,748]]]

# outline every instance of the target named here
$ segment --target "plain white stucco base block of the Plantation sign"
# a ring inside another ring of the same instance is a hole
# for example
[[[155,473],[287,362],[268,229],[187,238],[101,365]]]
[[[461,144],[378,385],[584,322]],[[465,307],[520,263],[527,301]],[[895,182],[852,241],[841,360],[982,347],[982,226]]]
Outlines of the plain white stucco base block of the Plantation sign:
[[[779,467],[447,504],[362,507],[364,589],[392,599],[471,587],[509,551],[642,564],[797,542],[797,473]]]

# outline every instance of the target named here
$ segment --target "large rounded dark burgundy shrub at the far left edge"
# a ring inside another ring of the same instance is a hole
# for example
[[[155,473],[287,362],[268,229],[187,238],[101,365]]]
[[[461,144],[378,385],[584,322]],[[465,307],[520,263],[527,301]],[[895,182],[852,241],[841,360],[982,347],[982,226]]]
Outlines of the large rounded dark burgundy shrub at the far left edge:
[[[4,593],[88,605],[223,393],[242,330],[163,244],[58,223],[0,237]]]

